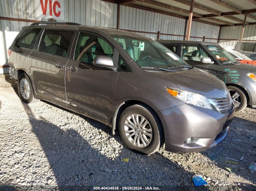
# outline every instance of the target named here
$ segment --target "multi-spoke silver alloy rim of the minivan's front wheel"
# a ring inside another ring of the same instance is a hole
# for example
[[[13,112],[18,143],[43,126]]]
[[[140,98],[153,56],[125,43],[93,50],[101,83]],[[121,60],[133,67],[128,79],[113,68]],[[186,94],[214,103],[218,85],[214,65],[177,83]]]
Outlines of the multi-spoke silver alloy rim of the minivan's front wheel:
[[[125,119],[125,136],[138,148],[147,147],[152,140],[152,128],[148,120],[140,114],[131,114]]]

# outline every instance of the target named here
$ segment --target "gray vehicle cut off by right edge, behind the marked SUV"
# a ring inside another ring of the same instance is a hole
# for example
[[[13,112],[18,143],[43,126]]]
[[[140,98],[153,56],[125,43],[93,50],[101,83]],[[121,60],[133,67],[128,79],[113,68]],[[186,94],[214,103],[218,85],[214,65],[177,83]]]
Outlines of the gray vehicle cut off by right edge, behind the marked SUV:
[[[248,56],[252,60],[256,60],[256,42],[237,42],[234,50]]]

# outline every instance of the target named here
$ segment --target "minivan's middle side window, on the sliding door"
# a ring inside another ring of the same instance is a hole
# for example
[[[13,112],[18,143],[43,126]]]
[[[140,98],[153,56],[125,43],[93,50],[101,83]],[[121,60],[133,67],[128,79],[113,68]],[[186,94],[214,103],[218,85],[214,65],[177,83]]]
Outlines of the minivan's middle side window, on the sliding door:
[[[45,30],[38,51],[67,58],[73,34],[70,30]]]

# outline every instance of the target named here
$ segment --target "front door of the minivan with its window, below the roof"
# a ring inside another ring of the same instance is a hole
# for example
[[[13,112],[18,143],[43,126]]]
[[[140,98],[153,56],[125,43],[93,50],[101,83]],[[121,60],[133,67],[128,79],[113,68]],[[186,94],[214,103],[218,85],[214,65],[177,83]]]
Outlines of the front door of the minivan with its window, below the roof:
[[[109,56],[117,66],[118,52],[96,33],[79,31],[76,39],[65,73],[68,107],[109,122],[118,72],[95,67],[93,60]]]

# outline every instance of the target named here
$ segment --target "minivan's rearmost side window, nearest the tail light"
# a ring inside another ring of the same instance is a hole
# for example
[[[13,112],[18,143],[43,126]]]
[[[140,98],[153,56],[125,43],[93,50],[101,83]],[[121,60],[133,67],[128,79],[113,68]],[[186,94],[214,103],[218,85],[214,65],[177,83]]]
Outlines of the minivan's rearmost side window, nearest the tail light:
[[[18,37],[15,44],[22,48],[33,49],[40,31],[41,28],[25,29]]]

